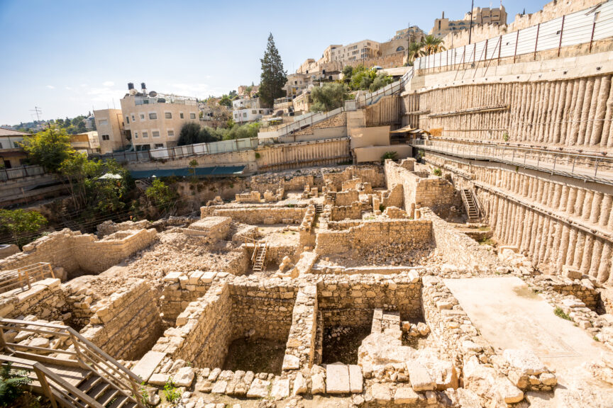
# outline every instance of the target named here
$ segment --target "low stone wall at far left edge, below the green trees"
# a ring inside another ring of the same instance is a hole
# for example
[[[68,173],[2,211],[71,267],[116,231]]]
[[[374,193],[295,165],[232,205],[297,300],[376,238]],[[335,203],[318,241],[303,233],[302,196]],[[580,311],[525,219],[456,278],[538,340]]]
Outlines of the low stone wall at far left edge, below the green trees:
[[[101,273],[155,239],[155,229],[115,232],[103,239],[92,234],[62,229],[23,246],[23,252],[0,261],[0,271],[20,268],[37,262],[48,262],[64,268],[68,278],[79,273]]]

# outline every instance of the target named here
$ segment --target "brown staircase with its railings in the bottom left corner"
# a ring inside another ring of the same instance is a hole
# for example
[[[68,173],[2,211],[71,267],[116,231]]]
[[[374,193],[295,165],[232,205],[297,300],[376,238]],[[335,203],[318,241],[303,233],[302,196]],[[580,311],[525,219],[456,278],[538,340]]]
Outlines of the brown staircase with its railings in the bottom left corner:
[[[67,349],[13,343],[29,332],[71,343]],[[53,408],[145,408],[142,380],[114,358],[62,324],[0,319],[0,364],[23,370],[33,392]]]

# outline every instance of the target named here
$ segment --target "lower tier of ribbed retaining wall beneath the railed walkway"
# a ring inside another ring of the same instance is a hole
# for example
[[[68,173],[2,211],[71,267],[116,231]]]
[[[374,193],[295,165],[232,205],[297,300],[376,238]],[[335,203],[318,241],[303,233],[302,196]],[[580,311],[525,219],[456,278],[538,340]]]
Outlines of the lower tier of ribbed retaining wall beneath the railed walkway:
[[[427,156],[453,164],[475,178],[477,196],[496,239],[527,251],[543,270],[560,273],[578,268],[601,283],[612,282],[613,191],[537,171],[500,164],[469,164]]]

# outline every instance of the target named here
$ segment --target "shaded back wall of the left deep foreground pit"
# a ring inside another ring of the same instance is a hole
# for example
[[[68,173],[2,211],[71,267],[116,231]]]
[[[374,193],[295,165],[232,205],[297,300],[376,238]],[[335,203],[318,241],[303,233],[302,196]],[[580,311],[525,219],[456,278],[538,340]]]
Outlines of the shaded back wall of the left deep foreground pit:
[[[238,279],[231,285],[232,339],[250,334],[253,338],[287,341],[298,288],[281,281],[278,285],[260,285]]]

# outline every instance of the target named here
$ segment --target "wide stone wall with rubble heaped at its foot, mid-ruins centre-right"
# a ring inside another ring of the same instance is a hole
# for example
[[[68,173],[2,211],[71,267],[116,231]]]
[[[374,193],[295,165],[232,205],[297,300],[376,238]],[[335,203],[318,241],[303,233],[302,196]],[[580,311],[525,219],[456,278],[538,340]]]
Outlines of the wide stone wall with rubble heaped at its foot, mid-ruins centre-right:
[[[370,251],[392,244],[407,249],[426,249],[431,245],[432,237],[429,220],[365,220],[349,229],[320,232],[315,251],[320,255],[338,254],[350,249]]]

